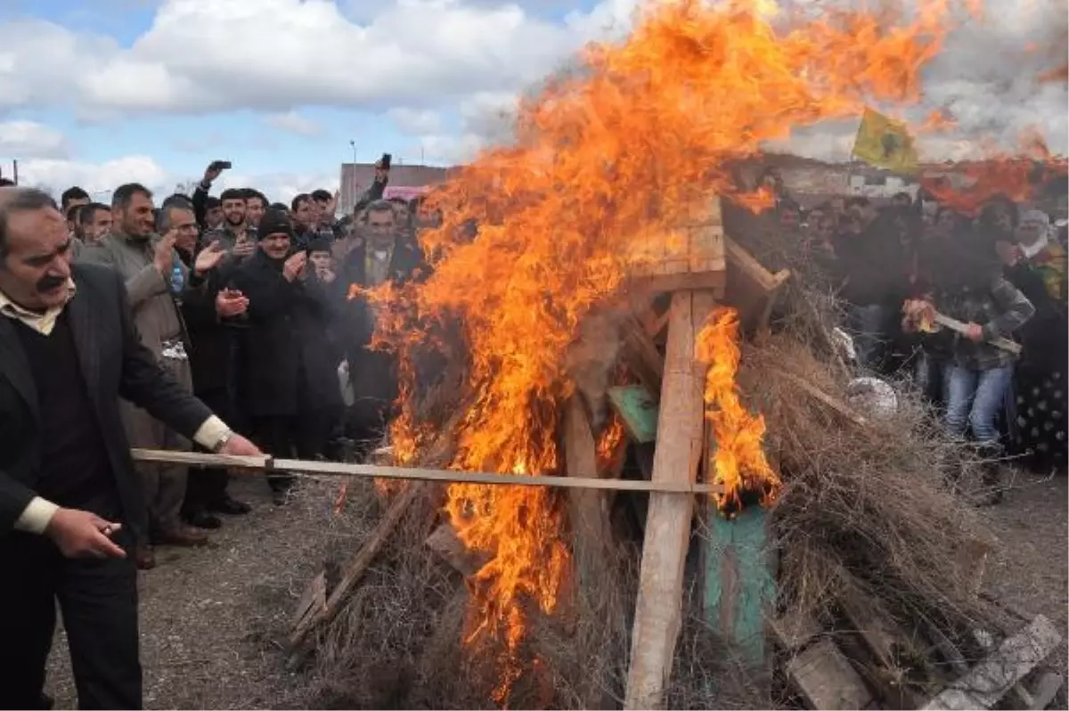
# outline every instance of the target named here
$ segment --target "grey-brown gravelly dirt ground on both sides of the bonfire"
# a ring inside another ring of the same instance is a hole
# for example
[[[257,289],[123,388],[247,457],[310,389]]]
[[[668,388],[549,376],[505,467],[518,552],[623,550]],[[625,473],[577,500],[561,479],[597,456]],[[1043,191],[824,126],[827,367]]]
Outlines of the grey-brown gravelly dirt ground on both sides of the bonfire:
[[[983,512],[1001,543],[986,588],[1026,614],[1049,616],[1069,635],[1069,476],[1020,475],[1014,483],[1003,506]],[[164,550],[161,565],[142,575],[150,711],[289,711],[309,698],[307,680],[283,669],[281,640],[324,551],[357,545],[367,531],[354,522],[367,516],[352,508],[357,496],[346,513],[335,514],[332,482],[309,482],[282,508],[272,506],[262,480],[245,479],[233,490],[254,504],[249,516],[229,520],[211,547]],[[1069,671],[1069,650],[1054,663]],[[62,631],[49,685],[57,709],[74,708]]]

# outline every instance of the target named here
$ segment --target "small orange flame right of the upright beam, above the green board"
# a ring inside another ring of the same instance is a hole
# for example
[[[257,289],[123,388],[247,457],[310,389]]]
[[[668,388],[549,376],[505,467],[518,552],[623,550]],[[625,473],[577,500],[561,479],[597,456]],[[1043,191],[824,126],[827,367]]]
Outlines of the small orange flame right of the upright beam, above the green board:
[[[712,482],[724,486],[724,493],[713,498],[716,508],[729,516],[742,510],[744,494],[768,506],[783,489],[764,457],[764,418],[750,415],[739,399],[735,374],[742,354],[738,341],[739,314],[728,308],[713,312],[697,338],[698,360],[709,365],[706,419],[712,423],[716,445]]]

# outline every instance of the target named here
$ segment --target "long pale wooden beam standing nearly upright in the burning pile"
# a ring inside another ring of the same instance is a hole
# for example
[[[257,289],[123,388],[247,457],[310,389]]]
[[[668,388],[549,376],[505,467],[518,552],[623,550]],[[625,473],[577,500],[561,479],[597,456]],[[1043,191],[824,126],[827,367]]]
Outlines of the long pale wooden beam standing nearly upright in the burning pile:
[[[695,481],[703,442],[704,368],[695,358],[698,330],[715,306],[709,292],[672,295],[661,390],[653,482]],[[646,519],[638,600],[624,708],[646,711],[663,702],[679,636],[694,498],[653,494]]]

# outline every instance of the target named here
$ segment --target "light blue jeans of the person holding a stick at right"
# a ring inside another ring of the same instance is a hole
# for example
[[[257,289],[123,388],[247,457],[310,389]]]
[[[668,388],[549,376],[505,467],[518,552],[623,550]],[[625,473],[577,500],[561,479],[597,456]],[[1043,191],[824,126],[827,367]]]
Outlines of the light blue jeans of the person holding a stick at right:
[[[946,404],[946,429],[964,437],[971,429],[973,439],[981,445],[998,443],[996,421],[1006,404],[1006,390],[1013,377],[1013,367],[970,370],[951,364],[943,369],[943,400]]]

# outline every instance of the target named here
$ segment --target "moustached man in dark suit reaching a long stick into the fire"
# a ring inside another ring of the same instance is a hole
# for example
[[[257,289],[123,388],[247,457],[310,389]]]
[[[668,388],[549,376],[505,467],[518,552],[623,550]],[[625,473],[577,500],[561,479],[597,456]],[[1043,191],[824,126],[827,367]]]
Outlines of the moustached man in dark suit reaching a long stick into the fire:
[[[164,374],[122,278],[71,265],[40,190],[0,188],[0,707],[47,708],[63,612],[79,708],[141,708],[135,529],[146,525],[119,398],[220,453],[258,455]]]

